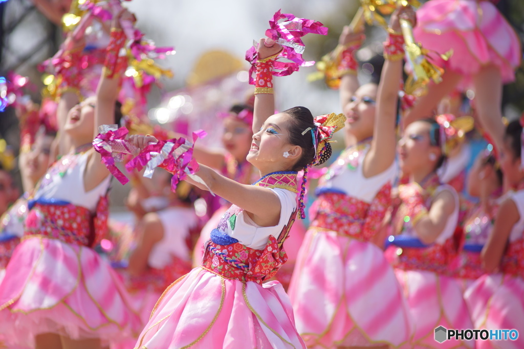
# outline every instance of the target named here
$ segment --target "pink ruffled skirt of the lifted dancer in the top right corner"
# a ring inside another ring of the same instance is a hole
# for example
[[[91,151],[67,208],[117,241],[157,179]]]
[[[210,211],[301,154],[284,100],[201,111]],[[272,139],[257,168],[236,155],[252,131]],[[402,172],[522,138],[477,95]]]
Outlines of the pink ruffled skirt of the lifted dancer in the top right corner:
[[[447,67],[466,77],[484,65],[495,64],[504,82],[515,80],[522,55],[520,41],[488,1],[428,1],[417,10],[413,34],[426,49],[441,54],[452,49]]]

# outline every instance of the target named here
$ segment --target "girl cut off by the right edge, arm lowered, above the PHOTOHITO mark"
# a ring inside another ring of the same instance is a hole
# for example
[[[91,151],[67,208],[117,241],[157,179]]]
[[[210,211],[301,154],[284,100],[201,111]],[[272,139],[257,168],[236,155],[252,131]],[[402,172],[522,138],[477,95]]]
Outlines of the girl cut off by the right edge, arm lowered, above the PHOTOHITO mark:
[[[465,299],[475,321],[475,329],[517,330],[522,333],[524,323],[524,172],[522,171],[522,126],[519,121],[509,123],[503,147],[500,149],[500,167],[504,179],[516,188],[515,193],[500,204],[493,230],[481,253],[485,274],[466,290]],[[524,337],[515,341],[479,341],[478,348],[521,348]]]

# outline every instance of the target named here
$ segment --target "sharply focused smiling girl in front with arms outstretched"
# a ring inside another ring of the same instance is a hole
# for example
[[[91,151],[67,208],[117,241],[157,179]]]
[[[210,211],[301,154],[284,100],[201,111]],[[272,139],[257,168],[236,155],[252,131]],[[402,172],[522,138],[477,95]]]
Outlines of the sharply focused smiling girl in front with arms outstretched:
[[[263,51],[258,76],[271,65],[262,59],[270,50],[259,47]],[[233,206],[205,243],[201,267],[160,297],[138,348],[305,348],[280,283],[263,282],[287,259],[282,244],[299,210],[297,171],[329,158],[327,142],[343,126],[343,116],[313,119],[307,108],[295,107],[267,118],[274,105],[258,102],[253,123],[258,130],[247,160],[261,178],[244,185],[200,166],[197,174],[209,189]],[[139,148],[155,141],[136,136],[132,140]]]

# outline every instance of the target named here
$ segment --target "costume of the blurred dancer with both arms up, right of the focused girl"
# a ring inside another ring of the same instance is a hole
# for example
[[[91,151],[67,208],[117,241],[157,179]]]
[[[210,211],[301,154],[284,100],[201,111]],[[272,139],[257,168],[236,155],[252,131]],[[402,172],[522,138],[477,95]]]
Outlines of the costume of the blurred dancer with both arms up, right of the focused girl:
[[[309,347],[397,347],[412,335],[393,268],[371,240],[390,205],[396,166],[365,178],[369,141],[347,148],[320,179],[289,295]]]

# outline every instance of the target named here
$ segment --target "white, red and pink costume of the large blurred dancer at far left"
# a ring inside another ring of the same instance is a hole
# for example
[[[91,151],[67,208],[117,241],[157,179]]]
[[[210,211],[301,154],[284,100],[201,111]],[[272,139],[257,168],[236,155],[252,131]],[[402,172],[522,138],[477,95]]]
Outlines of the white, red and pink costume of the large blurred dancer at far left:
[[[138,330],[119,277],[90,248],[106,228],[109,177],[84,191],[88,154],[63,156],[30,200],[24,237],[0,284],[0,317],[9,319],[2,332],[14,343],[34,346],[42,333],[107,343]]]

